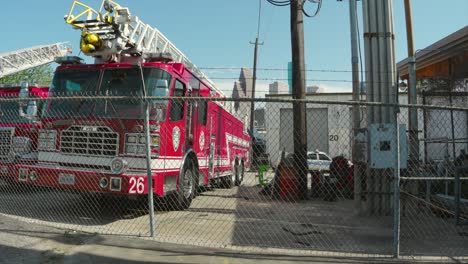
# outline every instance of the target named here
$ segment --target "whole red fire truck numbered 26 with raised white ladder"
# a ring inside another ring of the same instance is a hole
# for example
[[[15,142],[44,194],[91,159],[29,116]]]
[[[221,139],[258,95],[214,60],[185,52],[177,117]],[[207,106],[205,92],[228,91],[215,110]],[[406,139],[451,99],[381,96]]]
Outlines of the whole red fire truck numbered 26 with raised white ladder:
[[[85,20],[72,15],[78,7],[85,8]],[[149,144],[157,196],[176,193],[179,208],[187,208],[198,186],[241,183],[250,165],[246,124],[224,102],[210,100],[224,95],[167,38],[113,1],[103,1],[99,11],[75,1],[66,20],[82,29],[81,50],[96,62],[58,58],[50,96],[128,98],[51,98],[39,131],[38,164],[20,165],[19,178],[33,174],[36,185],[147,194],[146,103],[139,99],[147,95],[152,96]]]

